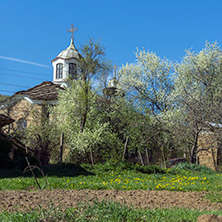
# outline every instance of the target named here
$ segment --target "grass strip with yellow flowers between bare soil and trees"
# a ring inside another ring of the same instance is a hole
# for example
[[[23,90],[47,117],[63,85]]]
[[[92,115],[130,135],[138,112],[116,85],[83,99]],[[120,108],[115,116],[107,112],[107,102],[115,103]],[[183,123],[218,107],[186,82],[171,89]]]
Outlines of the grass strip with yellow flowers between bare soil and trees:
[[[179,165],[171,169],[156,166],[110,164],[67,164],[43,168],[48,184],[37,173],[42,189],[118,189],[221,191],[222,174],[196,165]],[[35,190],[37,184],[30,173],[19,170],[0,171],[0,190]]]

